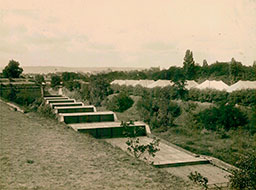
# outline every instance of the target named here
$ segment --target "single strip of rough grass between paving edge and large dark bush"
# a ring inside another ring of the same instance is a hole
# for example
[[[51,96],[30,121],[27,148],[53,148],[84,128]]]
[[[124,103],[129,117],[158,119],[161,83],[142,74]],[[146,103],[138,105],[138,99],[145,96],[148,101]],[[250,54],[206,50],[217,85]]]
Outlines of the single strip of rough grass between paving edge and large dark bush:
[[[213,156],[232,165],[242,154],[256,150],[256,135],[250,136],[242,130],[229,131],[225,138],[221,133],[186,127],[172,127],[167,132],[153,133],[189,151]]]

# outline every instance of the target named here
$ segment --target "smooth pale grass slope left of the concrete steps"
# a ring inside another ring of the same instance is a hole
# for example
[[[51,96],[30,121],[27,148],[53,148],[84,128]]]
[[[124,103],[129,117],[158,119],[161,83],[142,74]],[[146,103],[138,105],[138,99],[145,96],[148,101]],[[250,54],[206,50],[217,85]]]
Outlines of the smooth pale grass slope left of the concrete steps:
[[[169,173],[0,102],[0,189],[191,189]]]

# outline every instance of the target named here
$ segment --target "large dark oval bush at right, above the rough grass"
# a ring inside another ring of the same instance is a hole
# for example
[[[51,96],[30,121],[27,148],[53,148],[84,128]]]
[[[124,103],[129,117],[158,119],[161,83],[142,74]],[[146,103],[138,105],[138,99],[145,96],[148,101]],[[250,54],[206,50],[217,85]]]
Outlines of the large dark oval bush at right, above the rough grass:
[[[197,125],[208,130],[236,129],[248,123],[247,116],[232,105],[211,107],[195,115]]]

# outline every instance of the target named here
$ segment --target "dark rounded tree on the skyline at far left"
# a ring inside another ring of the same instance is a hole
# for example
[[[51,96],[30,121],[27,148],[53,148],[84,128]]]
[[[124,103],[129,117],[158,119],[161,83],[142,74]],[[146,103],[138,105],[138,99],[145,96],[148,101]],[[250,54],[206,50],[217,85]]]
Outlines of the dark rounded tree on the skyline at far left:
[[[23,69],[19,67],[20,63],[10,60],[9,64],[4,68],[3,75],[6,78],[19,78]]]

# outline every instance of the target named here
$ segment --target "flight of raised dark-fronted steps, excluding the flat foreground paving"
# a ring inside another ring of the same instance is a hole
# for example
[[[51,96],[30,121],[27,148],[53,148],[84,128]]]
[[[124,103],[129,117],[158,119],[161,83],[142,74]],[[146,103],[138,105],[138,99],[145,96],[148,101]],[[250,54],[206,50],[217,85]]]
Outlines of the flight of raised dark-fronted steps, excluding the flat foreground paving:
[[[85,106],[68,97],[44,97],[45,103],[54,110],[60,122],[78,132],[86,132],[96,138],[123,137],[124,128],[112,111],[97,112],[95,106]],[[129,125],[129,129],[139,136],[150,134],[149,127],[143,122]]]

